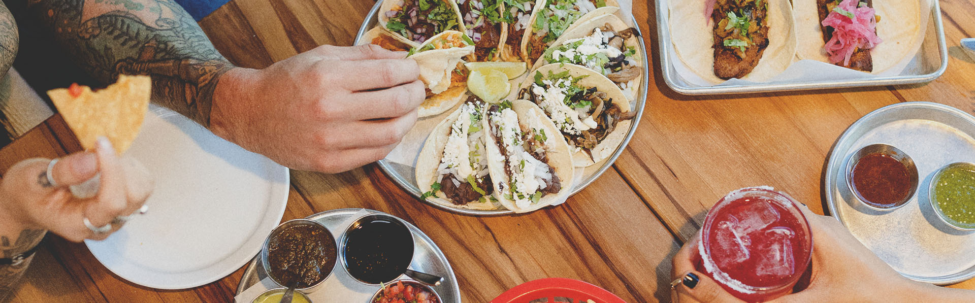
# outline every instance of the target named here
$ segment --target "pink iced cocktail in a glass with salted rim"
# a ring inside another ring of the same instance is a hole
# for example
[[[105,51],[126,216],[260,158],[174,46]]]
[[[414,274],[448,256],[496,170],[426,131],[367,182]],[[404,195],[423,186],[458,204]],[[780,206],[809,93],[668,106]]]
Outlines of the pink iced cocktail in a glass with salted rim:
[[[704,220],[703,272],[749,302],[790,293],[812,255],[809,223],[796,204],[770,187],[728,193]]]

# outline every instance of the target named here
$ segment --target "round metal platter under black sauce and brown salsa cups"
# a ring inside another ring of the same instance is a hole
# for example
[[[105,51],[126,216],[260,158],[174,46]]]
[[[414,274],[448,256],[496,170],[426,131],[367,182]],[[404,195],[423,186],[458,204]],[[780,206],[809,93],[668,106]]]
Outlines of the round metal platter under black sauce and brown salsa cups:
[[[307,216],[306,218],[318,221],[325,225],[331,230],[332,235],[335,237],[336,241],[342,238],[342,234],[345,232],[348,224],[351,223],[351,219],[354,219],[355,215],[359,211],[365,211],[364,214],[369,213],[385,213],[378,210],[365,209],[365,208],[339,208],[331,209],[327,211],[322,211]],[[453,275],[453,269],[450,267],[450,263],[447,260],[447,256],[444,255],[444,251],[440,250],[433,240],[430,240],[419,228],[409,224],[409,222],[400,219],[404,224],[409,227],[409,231],[413,233],[413,245],[416,247],[413,252],[412,263],[409,264],[409,269],[428,273],[431,275],[437,275],[444,277],[444,282],[439,286],[434,286],[433,289],[440,294],[440,297],[444,302],[460,302],[460,286],[457,284],[457,277]],[[315,291],[309,296],[314,299],[315,293],[318,292],[334,292],[348,293],[348,289],[335,289],[331,286],[340,286],[347,288],[356,288],[356,296],[351,297],[347,295],[342,295],[341,298],[334,298],[334,302],[369,302],[372,298],[372,294],[379,290],[379,286],[372,286],[366,284],[359,284],[354,282],[353,278],[349,276],[349,273],[341,265],[341,261],[336,262],[334,271],[331,272],[329,280],[323,283],[320,288],[315,289]],[[264,272],[264,267],[260,264],[260,259],[254,257],[251,263],[248,264],[247,270],[244,271],[244,276],[241,278],[240,284],[237,284],[237,294],[244,292],[247,288],[254,284],[260,283],[261,280],[267,278],[267,273]],[[397,280],[408,278],[406,275],[400,276]],[[330,284],[330,280],[337,280],[340,283]]]

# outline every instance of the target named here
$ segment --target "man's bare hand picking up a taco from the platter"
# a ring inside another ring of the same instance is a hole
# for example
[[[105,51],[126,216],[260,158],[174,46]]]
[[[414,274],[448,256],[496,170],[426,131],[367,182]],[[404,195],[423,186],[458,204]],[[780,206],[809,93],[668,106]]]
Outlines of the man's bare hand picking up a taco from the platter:
[[[340,172],[382,159],[416,121],[419,68],[374,45],[321,46],[216,86],[211,130],[295,170]]]

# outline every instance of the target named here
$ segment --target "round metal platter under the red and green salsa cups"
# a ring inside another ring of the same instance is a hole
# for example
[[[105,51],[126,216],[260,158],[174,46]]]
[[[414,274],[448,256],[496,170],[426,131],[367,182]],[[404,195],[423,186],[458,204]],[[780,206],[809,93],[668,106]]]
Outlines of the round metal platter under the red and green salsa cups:
[[[975,161],[975,117],[931,102],[902,102],[875,110],[839,136],[823,175],[830,213],[904,277],[956,284],[975,277],[975,232],[958,231],[935,214],[928,185],[935,170]],[[846,185],[846,163],[860,148],[884,143],[914,159],[917,193],[903,208],[865,207]]]

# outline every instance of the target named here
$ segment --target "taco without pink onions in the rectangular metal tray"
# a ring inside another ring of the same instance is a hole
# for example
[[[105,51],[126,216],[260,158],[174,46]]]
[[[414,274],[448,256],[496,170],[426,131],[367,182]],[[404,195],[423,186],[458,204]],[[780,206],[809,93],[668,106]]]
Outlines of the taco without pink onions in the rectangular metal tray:
[[[731,78],[768,81],[796,57],[789,0],[705,2],[670,3],[671,41],[696,75],[712,83]]]

